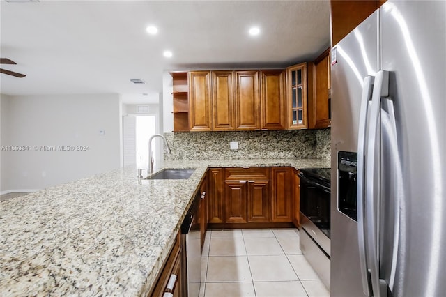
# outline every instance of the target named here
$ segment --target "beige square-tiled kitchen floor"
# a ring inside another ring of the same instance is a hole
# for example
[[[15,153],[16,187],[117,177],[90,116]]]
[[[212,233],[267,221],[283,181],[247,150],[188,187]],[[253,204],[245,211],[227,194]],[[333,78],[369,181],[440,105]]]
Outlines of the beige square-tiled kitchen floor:
[[[201,297],[330,296],[299,249],[298,229],[210,230]]]

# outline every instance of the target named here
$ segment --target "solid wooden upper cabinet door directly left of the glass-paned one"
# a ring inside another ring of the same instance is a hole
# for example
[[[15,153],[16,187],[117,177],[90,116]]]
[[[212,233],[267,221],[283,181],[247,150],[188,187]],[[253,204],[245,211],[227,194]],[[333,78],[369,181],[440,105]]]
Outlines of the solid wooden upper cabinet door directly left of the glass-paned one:
[[[261,129],[285,129],[284,70],[262,70]]]

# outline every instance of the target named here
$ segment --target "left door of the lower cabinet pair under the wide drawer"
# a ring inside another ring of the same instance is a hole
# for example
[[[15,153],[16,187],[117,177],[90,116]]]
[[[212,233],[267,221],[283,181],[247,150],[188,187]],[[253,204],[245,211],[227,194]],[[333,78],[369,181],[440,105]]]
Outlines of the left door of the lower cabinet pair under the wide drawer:
[[[226,181],[226,218],[225,222],[247,222],[246,218],[246,181]]]

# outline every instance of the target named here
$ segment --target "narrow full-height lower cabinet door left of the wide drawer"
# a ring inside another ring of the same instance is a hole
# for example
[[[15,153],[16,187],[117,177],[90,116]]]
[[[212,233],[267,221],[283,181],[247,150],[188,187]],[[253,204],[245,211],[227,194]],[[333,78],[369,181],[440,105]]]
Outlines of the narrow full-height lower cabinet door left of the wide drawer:
[[[208,192],[206,192],[208,206],[208,223],[223,222],[224,168],[210,168],[208,170]]]

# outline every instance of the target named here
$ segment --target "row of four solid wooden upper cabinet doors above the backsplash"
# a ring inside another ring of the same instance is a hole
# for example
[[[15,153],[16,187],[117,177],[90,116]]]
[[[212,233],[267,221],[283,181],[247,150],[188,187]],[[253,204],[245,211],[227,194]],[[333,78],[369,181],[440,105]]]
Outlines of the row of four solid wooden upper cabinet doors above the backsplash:
[[[188,81],[190,131],[286,129],[284,70],[192,71]]]

